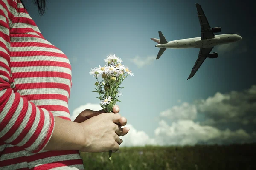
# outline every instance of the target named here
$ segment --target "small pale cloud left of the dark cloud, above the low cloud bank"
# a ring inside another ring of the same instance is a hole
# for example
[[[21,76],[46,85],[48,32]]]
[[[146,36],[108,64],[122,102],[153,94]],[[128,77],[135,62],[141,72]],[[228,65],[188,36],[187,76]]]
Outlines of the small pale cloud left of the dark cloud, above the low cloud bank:
[[[195,105],[183,102],[180,106],[174,106],[171,109],[161,112],[160,116],[172,119],[173,121],[178,119],[194,120],[197,116],[197,108]]]

